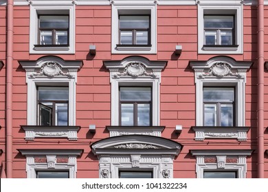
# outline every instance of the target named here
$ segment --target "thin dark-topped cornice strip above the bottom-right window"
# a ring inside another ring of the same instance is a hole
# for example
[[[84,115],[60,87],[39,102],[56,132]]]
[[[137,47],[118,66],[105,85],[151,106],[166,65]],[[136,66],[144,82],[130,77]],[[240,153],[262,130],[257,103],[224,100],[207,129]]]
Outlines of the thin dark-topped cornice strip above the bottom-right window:
[[[192,156],[251,156],[252,149],[192,149]]]

